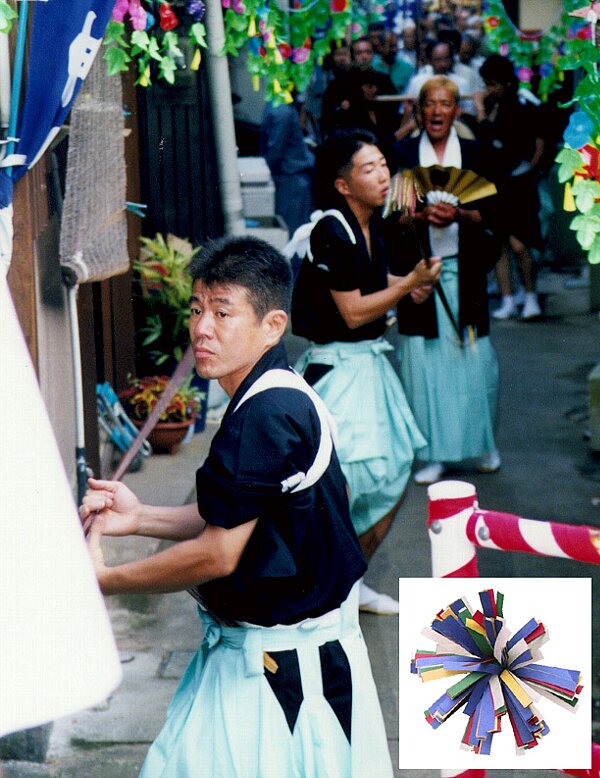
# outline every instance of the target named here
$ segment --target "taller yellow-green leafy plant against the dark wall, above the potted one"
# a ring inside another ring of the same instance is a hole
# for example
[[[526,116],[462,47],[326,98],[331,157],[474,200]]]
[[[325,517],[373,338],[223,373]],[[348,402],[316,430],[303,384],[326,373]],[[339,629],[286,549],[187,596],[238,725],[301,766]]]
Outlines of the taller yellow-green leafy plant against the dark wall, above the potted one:
[[[189,299],[192,282],[188,265],[199,248],[175,235],[142,237],[139,259],[133,262],[143,324],[140,348],[159,367],[179,362],[189,342]]]

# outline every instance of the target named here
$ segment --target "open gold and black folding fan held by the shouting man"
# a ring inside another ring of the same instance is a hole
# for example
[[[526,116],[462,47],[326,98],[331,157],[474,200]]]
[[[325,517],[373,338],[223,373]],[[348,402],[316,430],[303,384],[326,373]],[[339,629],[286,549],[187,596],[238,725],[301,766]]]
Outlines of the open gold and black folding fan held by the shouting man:
[[[429,192],[439,192],[439,196],[435,198],[437,202],[458,201],[465,205],[491,197],[496,191],[496,186],[491,181],[472,170],[441,165],[419,166],[412,170],[403,170],[392,177],[383,215],[387,217],[394,211],[414,213],[416,201],[424,200]]]

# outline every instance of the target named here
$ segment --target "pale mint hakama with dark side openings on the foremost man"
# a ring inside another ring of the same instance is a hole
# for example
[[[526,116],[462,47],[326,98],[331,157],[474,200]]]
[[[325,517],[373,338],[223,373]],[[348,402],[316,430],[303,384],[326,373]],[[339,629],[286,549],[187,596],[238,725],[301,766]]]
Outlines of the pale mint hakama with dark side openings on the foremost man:
[[[204,611],[200,617],[204,640],[140,778],[392,778],[358,584],[335,611],[296,625],[226,627]],[[325,690],[336,681],[324,678],[321,660],[332,642],[351,674],[350,739]],[[266,667],[265,652],[271,661],[277,652],[297,655],[302,702],[293,728],[265,677],[282,671]]]

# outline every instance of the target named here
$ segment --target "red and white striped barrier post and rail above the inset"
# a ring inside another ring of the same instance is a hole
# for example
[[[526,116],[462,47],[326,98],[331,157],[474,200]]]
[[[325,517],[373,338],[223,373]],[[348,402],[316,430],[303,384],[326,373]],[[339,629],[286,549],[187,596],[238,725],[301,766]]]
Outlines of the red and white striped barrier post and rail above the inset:
[[[433,578],[477,578],[477,548],[525,551],[600,564],[600,530],[595,527],[482,510],[475,487],[464,481],[439,481],[427,493]],[[590,770],[561,772],[580,778],[600,778],[600,745],[592,744]],[[485,778],[485,770],[442,770],[441,778]]]

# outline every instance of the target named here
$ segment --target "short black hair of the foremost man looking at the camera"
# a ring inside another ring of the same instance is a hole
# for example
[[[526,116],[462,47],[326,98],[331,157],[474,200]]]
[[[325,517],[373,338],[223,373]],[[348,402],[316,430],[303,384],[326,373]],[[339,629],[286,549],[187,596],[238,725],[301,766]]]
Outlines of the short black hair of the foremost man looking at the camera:
[[[269,311],[289,311],[291,269],[288,261],[260,238],[229,235],[208,243],[189,269],[192,282],[206,286],[242,286],[256,317]]]

